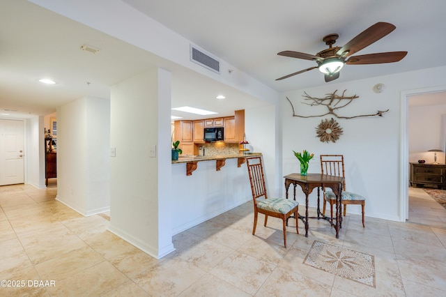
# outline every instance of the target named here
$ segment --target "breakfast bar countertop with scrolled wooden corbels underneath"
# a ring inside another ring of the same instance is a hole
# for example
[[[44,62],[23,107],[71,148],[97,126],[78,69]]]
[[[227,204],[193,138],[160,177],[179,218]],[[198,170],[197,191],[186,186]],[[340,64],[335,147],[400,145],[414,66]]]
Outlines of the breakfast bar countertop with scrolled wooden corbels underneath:
[[[198,162],[201,161],[213,161],[215,160],[215,170],[220,169],[225,165],[226,159],[238,159],[237,166],[240,167],[245,163],[245,158],[262,155],[261,153],[238,153],[233,155],[197,155],[197,156],[180,156],[178,160],[172,160],[172,164],[186,163],[186,175],[192,175],[195,169],[197,169]]]

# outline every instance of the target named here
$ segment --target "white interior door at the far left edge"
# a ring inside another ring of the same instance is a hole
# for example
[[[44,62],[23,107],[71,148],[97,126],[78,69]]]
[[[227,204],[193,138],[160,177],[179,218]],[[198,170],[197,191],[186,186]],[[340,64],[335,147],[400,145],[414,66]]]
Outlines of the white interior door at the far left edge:
[[[24,183],[23,125],[0,120],[0,185]]]

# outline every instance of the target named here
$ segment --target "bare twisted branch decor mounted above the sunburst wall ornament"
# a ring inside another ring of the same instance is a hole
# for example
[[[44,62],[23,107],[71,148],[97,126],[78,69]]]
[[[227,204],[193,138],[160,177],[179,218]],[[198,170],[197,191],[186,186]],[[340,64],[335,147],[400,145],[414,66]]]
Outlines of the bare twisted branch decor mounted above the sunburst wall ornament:
[[[290,104],[291,104],[291,108],[293,109],[293,116],[298,116],[300,118],[315,118],[315,117],[318,117],[318,116],[326,116],[328,114],[332,114],[333,116],[336,116],[338,119],[354,119],[354,118],[360,118],[360,117],[364,117],[364,116],[383,116],[383,114],[385,112],[389,111],[389,109],[387,109],[387,110],[378,110],[378,112],[376,112],[376,114],[363,114],[363,115],[360,115],[360,116],[339,116],[335,112],[337,109],[341,109],[342,107],[346,107],[347,105],[349,105],[353,101],[353,99],[359,98],[359,96],[357,96],[357,95],[345,96],[346,91],[347,90],[344,90],[344,92],[342,92],[342,95],[339,96],[339,95],[336,94],[336,92],[337,92],[337,90],[336,90],[333,93],[327,94],[327,96],[325,96],[324,98],[314,98],[312,96],[309,96],[307,94],[307,92],[304,92],[305,95],[302,95],[302,97],[304,97],[305,100],[311,100],[313,102],[312,103],[302,102],[303,104],[310,105],[310,106],[324,105],[328,109],[327,113],[319,114],[319,115],[315,115],[315,116],[300,116],[298,114],[295,114],[293,103],[291,103],[291,100],[289,100],[288,97],[286,97],[286,100],[288,100],[288,102],[290,102]],[[343,100],[346,100],[346,101],[343,101]],[[342,102],[342,105],[339,105],[339,103],[341,103],[341,102]]]

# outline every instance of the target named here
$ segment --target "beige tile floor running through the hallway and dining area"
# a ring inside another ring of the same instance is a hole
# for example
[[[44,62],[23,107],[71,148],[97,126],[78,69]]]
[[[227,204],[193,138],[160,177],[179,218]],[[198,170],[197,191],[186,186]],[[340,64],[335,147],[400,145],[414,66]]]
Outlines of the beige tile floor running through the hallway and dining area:
[[[418,190],[414,219],[445,222]],[[0,296],[446,296],[446,228],[426,221],[366,218],[363,229],[347,215],[339,239],[326,222],[311,220],[305,238],[290,221],[285,249],[275,218],[259,218],[252,236],[249,202],[177,234],[176,251],[156,260],[107,231],[107,216],[84,218],[55,195],[54,185],[0,187],[0,280],[24,281]],[[374,255],[376,288],[302,264],[314,241]]]

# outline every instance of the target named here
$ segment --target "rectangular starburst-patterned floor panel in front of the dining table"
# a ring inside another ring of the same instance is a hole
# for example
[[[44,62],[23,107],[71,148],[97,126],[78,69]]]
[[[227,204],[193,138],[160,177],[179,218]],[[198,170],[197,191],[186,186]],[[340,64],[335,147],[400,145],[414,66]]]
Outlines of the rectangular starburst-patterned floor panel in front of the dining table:
[[[314,241],[304,264],[375,287],[375,258],[336,245]]]

